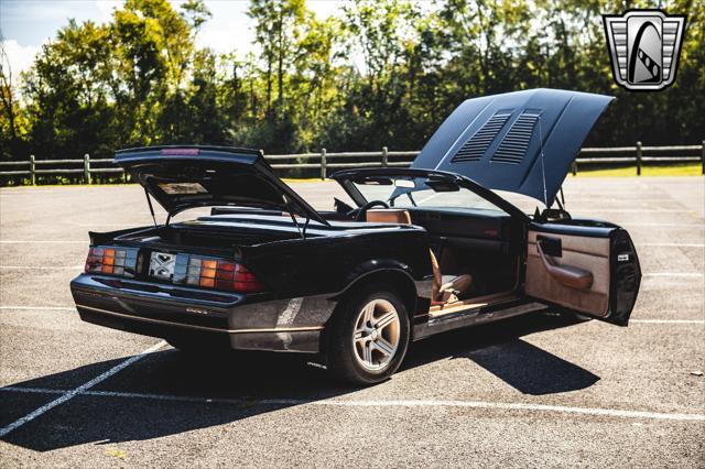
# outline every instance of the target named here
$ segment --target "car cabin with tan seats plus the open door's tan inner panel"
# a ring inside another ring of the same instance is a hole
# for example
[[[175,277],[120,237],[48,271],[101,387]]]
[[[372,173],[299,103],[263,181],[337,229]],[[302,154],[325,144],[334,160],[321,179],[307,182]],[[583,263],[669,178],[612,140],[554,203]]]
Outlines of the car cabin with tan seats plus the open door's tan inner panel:
[[[527,294],[597,317],[609,313],[610,240],[585,232],[608,223],[558,217],[552,221],[554,232],[529,230],[523,240],[521,222],[500,209],[361,207],[354,212],[370,222],[426,229],[434,273],[432,316],[517,298],[521,269]],[[574,226],[583,231],[573,233]],[[520,262],[524,252],[525,266]]]

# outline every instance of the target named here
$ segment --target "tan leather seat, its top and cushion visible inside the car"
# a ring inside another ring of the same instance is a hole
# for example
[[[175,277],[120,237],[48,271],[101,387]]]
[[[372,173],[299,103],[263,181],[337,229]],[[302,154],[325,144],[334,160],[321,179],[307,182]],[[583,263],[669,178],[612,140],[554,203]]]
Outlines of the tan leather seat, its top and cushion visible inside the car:
[[[367,210],[366,219],[367,221],[377,223],[411,225],[411,215],[409,210],[404,210],[403,208],[376,208],[373,210]],[[458,297],[470,288],[473,276],[470,274],[463,274],[444,283],[435,254],[432,250],[429,250],[429,253],[431,254],[431,268],[433,269],[431,304],[445,305],[457,302]]]

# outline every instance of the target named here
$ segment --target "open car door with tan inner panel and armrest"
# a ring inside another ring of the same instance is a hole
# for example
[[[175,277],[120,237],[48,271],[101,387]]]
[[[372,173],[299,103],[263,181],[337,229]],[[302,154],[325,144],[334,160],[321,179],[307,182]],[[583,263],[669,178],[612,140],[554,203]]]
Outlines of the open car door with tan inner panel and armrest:
[[[530,223],[527,295],[627,326],[641,282],[629,233],[610,223]]]

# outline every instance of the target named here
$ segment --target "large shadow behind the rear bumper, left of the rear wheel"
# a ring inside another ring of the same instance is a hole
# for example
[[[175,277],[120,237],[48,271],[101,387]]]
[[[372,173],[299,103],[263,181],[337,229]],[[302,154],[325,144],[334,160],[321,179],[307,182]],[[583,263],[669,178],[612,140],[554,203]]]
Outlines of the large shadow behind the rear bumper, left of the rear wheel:
[[[72,381],[66,374],[96,377],[123,360],[79,367],[17,383],[12,388],[55,389],[53,382]],[[321,370],[294,357],[245,353],[207,361],[170,349],[151,353],[89,390],[101,391],[150,394],[152,397],[80,394],[1,440],[36,451],[90,443],[147,440],[334,397],[350,389],[335,385]],[[0,427],[59,395],[0,392]],[[160,399],[160,395],[164,397]],[[37,402],[39,396],[44,399]],[[216,402],[173,399],[194,396]],[[284,397],[293,402],[267,402]]]

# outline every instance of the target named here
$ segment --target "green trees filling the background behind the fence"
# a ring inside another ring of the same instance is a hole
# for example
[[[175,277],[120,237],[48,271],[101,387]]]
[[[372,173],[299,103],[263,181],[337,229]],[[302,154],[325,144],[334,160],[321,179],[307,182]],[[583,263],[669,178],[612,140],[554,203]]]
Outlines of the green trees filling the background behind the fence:
[[[688,15],[677,79],[636,94],[611,79],[600,13],[621,11],[614,0],[355,0],[325,20],[304,0],[251,0],[246,56],[195,46],[210,18],[202,0],[127,0],[106,24],[70,21],[21,86],[0,56],[0,157],[160,143],[415,150],[464,99],[534,87],[618,98],[590,145],[699,142],[705,3],[662,7]]]

